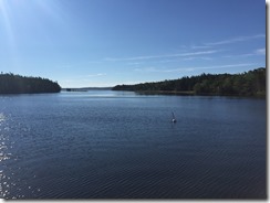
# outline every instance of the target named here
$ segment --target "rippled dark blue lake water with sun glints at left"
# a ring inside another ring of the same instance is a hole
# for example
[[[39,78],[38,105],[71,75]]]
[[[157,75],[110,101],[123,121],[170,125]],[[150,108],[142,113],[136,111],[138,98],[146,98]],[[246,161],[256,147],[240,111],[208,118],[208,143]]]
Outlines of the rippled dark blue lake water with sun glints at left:
[[[266,110],[236,97],[0,96],[0,194],[266,199]]]

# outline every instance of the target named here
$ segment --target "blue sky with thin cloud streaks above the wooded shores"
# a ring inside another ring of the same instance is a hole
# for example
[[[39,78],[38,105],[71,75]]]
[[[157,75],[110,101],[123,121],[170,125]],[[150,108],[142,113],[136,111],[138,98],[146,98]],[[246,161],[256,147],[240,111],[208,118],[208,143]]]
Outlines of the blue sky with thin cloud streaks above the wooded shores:
[[[0,71],[62,87],[266,66],[263,0],[0,0]]]

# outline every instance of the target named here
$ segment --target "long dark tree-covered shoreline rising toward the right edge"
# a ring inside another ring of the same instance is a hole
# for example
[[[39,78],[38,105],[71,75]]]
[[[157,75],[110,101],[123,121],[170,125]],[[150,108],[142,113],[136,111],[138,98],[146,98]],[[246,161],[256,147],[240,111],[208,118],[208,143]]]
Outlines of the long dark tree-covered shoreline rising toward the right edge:
[[[201,74],[199,76],[136,85],[117,85],[113,90],[194,95],[266,96],[266,68],[242,74]]]

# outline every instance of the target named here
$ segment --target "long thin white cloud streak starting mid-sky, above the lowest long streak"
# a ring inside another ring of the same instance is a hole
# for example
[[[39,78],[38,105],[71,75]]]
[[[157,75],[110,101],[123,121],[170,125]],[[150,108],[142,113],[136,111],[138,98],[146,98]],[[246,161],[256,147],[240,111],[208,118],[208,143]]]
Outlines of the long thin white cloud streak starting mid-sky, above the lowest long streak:
[[[148,55],[148,56],[135,56],[135,57],[106,57],[105,61],[118,62],[118,61],[135,61],[135,60],[152,60],[152,58],[167,58],[167,57],[185,57],[185,56],[195,56],[195,55],[208,55],[219,52],[219,50],[209,50],[201,52],[186,52],[179,54],[164,54],[164,55]]]

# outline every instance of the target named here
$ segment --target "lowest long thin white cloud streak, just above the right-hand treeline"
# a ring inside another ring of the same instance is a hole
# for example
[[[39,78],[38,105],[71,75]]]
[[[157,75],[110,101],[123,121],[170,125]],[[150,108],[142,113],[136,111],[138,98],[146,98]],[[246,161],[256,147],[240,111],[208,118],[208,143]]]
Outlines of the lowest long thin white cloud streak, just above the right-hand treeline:
[[[245,67],[255,65],[252,63],[241,63],[241,64],[227,64],[227,65],[214,65],[214,66],[190,66],[190,67],[179,67],[179,68],[166,68],[160,70],[156,67],[146,68],[135,68],[136,72],[152,72],[152,73],[179,73],[179,72],[193,72],[199,70],[218,70],[218,68],[230,68],[230,67]]]

